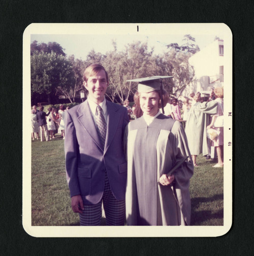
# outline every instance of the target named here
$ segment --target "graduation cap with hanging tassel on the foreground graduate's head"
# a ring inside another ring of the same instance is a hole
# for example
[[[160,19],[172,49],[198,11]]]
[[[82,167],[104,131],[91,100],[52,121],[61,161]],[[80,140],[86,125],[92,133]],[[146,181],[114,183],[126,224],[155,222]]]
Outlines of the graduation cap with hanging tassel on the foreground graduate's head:
[[[162,98],[162,79],[170,78],[172,76],[149,76],[137,79],[127,80],[127,82],[138,82],[139,93],[150,93],[154,91],[161,91],[161,105],[162,113],[164,114],[163,98]]]

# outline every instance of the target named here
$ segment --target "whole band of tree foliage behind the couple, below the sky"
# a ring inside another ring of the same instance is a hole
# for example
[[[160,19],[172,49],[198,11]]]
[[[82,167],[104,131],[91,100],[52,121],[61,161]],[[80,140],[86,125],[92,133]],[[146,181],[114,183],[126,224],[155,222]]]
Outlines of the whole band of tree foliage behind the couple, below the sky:
[[[126,80],[169,75],[173,78],[163,80],[164,88],[171,95],[180,95],[194,77],[193,67],[188,59],[199,51],[195,38],[185,35],[183,45],[167,45],[163,54],[154,54],[154,48],[148,49],[147,42],[134,41],[122,51],[117,50],[116,41],[112,41],[113,50],[105,55],[88,53],[86,60],[67,57],[57,42],[31,44],[31,92],[47,95],[48,102],[55,95],[64,95],[70,102],[79,97],[83,87],[83,73],[92,63],[100,63],[109,74],[107,96],[114,102],[123,102],[132,97],[137,83]],[[86,92],[86,90],[85,90]],[[87,93],[87,92],[86,92]]]

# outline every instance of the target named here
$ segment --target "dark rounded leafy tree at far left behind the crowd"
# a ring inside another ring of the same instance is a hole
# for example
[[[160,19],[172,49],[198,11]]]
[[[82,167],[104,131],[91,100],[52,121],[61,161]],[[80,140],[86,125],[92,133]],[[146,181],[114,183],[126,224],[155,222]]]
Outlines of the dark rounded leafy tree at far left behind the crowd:
[[[67,90],[74,82],[74,74],[69,60],[55,52],[35,51],[31,56],[31,94],[46,94],[48,103],[60,88]]]

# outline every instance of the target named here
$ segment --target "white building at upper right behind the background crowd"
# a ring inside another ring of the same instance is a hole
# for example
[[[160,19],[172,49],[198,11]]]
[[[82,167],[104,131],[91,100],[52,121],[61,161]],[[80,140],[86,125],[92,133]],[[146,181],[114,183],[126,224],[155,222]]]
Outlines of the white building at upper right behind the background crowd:
[[[182,97],[189,98],[192,92],[204,93],[209,86],[223,86],[223,52],[223,40],[218,39],[189,58],[195,76],[193,82],[183,91]]]

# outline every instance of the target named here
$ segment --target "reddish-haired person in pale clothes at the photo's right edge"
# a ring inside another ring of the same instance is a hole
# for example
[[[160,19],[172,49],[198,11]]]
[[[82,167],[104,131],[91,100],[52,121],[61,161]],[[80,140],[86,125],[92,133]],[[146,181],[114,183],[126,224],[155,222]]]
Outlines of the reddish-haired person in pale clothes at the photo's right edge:
[[[211,123],[207,126],[207,129],[210,129],[211,127],[218,132],[220,132],[219,136],[216,140],[212,141],[212,145],[216,148],[217,156],[218,156],[218,163],[215,164],[213,167],[222,167],[223,166],[223,127],[214,127],[214,123],[216,121],[216,118],[218,116],[223,116],[223,88],[218,87],[214,89],[214,95],[215,95],[215,102],[218,104],[217,112],[216,114],[212,115]]]

